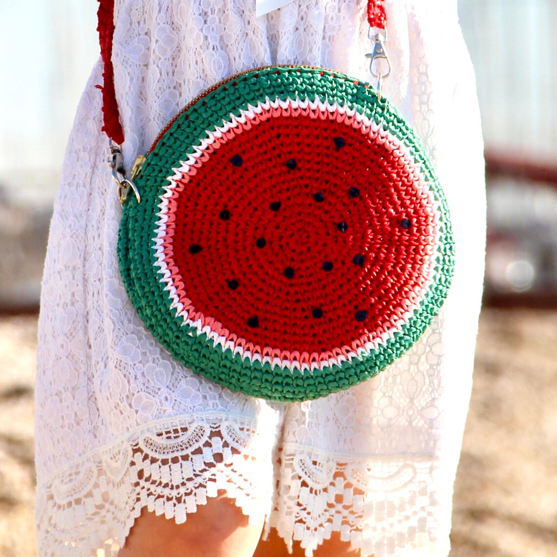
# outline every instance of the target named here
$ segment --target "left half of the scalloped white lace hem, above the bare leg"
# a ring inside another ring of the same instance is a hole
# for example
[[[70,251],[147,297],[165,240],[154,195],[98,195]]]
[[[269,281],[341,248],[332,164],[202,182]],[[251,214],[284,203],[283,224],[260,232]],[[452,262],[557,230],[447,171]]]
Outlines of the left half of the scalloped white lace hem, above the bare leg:
[[[226,414],[150,423],[39,482],[39,554],[116,557],[143,507],[181,524],[220,490],[255,519],[270,509],[274,442]]]

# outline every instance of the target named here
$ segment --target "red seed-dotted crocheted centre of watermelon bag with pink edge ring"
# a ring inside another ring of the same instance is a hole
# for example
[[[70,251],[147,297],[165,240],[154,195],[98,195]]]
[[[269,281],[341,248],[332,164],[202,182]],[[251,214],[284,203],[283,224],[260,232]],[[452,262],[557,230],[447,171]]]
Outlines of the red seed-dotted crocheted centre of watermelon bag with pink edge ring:
[[[189,320],[244,345],[325,354],[419,303],[431,198],[413,162],[353,121],[270,110],[175,179],[164,249]]]

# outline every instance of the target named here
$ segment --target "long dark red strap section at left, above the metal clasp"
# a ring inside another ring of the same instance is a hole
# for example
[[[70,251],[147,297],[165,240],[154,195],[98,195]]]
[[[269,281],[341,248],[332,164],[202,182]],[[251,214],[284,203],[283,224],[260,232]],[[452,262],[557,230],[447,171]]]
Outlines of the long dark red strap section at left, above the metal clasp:
[[[114,69],[112,65],[112,38],[114,35],[114,0],[98,0],[99,11],[99,43],[101,47],[101,58],[104,62],[102,85],[97,85],[102,91],[102,114],[104,115],[104,126],[102,131],[106,132],[113,141],[118,144],[124,142],[124,131],[120,125],[118,114],[118,102],[114,90]]]

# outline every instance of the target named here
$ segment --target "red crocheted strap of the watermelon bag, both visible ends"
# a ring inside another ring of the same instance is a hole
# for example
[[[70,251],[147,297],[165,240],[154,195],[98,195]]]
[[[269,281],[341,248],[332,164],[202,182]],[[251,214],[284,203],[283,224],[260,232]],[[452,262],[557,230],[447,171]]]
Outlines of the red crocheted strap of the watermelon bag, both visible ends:
[[[114,91],[114,69],[112,65],[112,39],[114,35],[114,0],[98,0],[99,2],[99,43],[101,57],[104,62],[104,82],[99,85],[102,90],[102,113],[104,126],[102,131],[116,143],[124,142],[124,131],[120,125],[118,103]],[[371,27],[385,29],[387,16],[385,15],[385,0],[368,0],[368,22]]]

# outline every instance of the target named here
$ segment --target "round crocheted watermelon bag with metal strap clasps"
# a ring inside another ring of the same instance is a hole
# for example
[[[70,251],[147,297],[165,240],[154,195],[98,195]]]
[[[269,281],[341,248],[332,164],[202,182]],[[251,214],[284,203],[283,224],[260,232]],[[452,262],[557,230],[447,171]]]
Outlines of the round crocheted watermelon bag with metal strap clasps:
[[[368,15],[384,27],[382,2]],[[112,165],[132,304],[173,358],[231,390],[295,401],[360,383],[447,295],[453,240],[432,165],[353,77],[243,72],[185,106],[129,179],[116,144]]]

